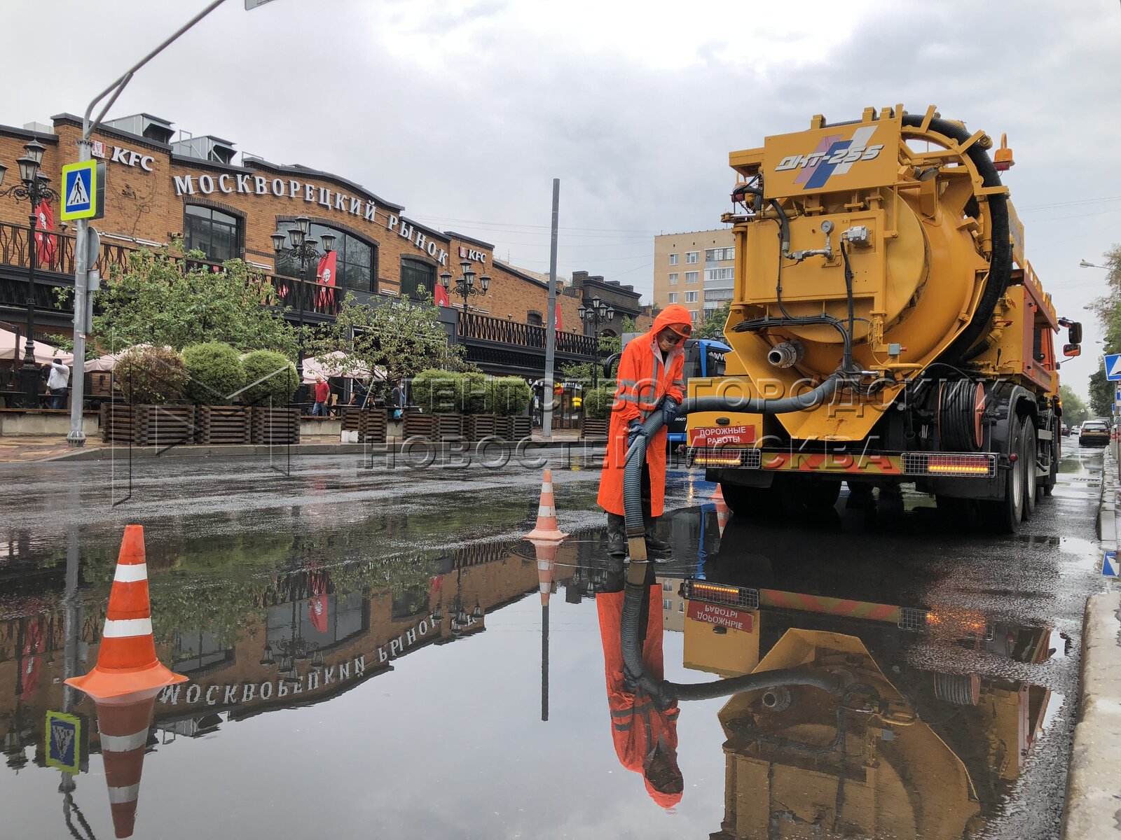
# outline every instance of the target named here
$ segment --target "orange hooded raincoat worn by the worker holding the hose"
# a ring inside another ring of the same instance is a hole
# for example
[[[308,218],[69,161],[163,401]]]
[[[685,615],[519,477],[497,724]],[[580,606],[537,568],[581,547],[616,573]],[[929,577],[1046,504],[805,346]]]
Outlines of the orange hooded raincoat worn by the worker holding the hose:
[[[685,399],[685,342],[671,349],[663,364],[657,335],[673,324],[693,328],[689,310],[670,304],[654,320],[649,332],[632,339],[623,347],[619,360],[619,386],[611,407],[611,426],[608,430],[608,452],[600,476],[600,507],[622,516],[623,468],[627,466],[627,432],[631,420],[645,421],[661,398],[669,394],[677,402]],[[646,447],[646,463],[650,468],[650,515],[660,516],[666,496],[666,429],[658,430]]]

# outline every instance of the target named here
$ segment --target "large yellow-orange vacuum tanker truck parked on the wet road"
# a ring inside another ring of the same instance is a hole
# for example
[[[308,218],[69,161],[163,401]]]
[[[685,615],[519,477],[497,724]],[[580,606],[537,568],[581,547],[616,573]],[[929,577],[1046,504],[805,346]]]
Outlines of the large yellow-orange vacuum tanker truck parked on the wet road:
[[[1057,317],[1025,253],[1000,172],[1012,153],[926,113],[850,122],[734,151],[733,375],[691,396],[781,398],[791,413],[698,412],[692,457],[733,511],[772,491],[800,507],[850,486],[914,482],[1016,530],[1060,455]],[[738,428],[735,436],[721,430]],[[705,442],[715,430],[713,442]],[[695,433],[694,433],[695,432]]]

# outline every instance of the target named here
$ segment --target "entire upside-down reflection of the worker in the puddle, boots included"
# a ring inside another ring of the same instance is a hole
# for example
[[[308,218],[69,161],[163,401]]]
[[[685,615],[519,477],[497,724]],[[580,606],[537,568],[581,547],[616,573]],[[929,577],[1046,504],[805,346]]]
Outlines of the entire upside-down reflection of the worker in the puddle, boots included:
[[[682,772],[677,767],[677,713],[675,702],[668,709],[657,703],[641,689],[634,690],[623,674],[622,622],[623,592],[621,570],[609,579],[595,596],[600,614],[600,636],[603,642],[603,664],[608,678],[608,706],[611,708],[611,738],[620,763],[629,771],[641,773],[650,799],[663,808],[673,808],[682,800]],[[615,591],[611,591],[615,589]],[[642,607],[642,664],[657,679],[664,675],[661,662],[660,588],[652,584]]]

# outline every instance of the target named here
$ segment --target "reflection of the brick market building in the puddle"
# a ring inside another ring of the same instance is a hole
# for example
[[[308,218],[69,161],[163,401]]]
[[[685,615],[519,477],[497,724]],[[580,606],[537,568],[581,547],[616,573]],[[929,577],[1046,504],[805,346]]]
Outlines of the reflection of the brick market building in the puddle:
[[[562,584],[576,566],[577,544],[560,548],[555,579]],[[325,700],[423,646],[472,637],[484,629],[487,614],[538,591],[532,551],[526,556],[518,543],[469,545],[399,568],[400,582],[381,567],[371,575],[359,564],[279,575],[240,615],[186,601],[175,625],[158,632],[161,661],[189,678],[157,699],[154,726],[163,740]],[[155,591],[159,577],[152,573]],[[373,584],[387,577],[389,588]],[[24,612],[0,622],[0,735],[13,767],[31,745],[35,763],[45,765],[43,720],[48,709],[62,708],[63,691],[62,613],[44,610],[37,599],[26,599]],[[103,615],[81,616],[83,671],[96,661],[102,623]],[[75,711],[92,720],[84,699]],[[96,752],[95,727],[89,729]]]

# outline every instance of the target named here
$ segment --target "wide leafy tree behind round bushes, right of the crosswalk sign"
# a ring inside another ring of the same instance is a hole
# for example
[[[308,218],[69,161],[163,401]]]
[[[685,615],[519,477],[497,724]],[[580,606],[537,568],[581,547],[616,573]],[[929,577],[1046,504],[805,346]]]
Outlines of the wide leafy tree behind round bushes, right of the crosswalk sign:
[[[200,251],[186,254],[202,260]],[[108,278],[94,295],[94,342],[102,353],[151,344],[183,349],[223,342],[239,351],[296,354],[296,330],[288,325],[276,290],[241,260],[219,270],[164,251],[129,254],[128,268]]]

